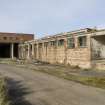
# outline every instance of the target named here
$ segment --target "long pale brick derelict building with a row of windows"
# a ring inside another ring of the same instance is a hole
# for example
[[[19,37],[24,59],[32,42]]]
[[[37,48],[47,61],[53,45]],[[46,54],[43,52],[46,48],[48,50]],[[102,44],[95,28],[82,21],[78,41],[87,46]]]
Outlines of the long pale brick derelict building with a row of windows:
[[[26,41],[19,45],[19,57],[105,69],[105,30],[86,28]]]

